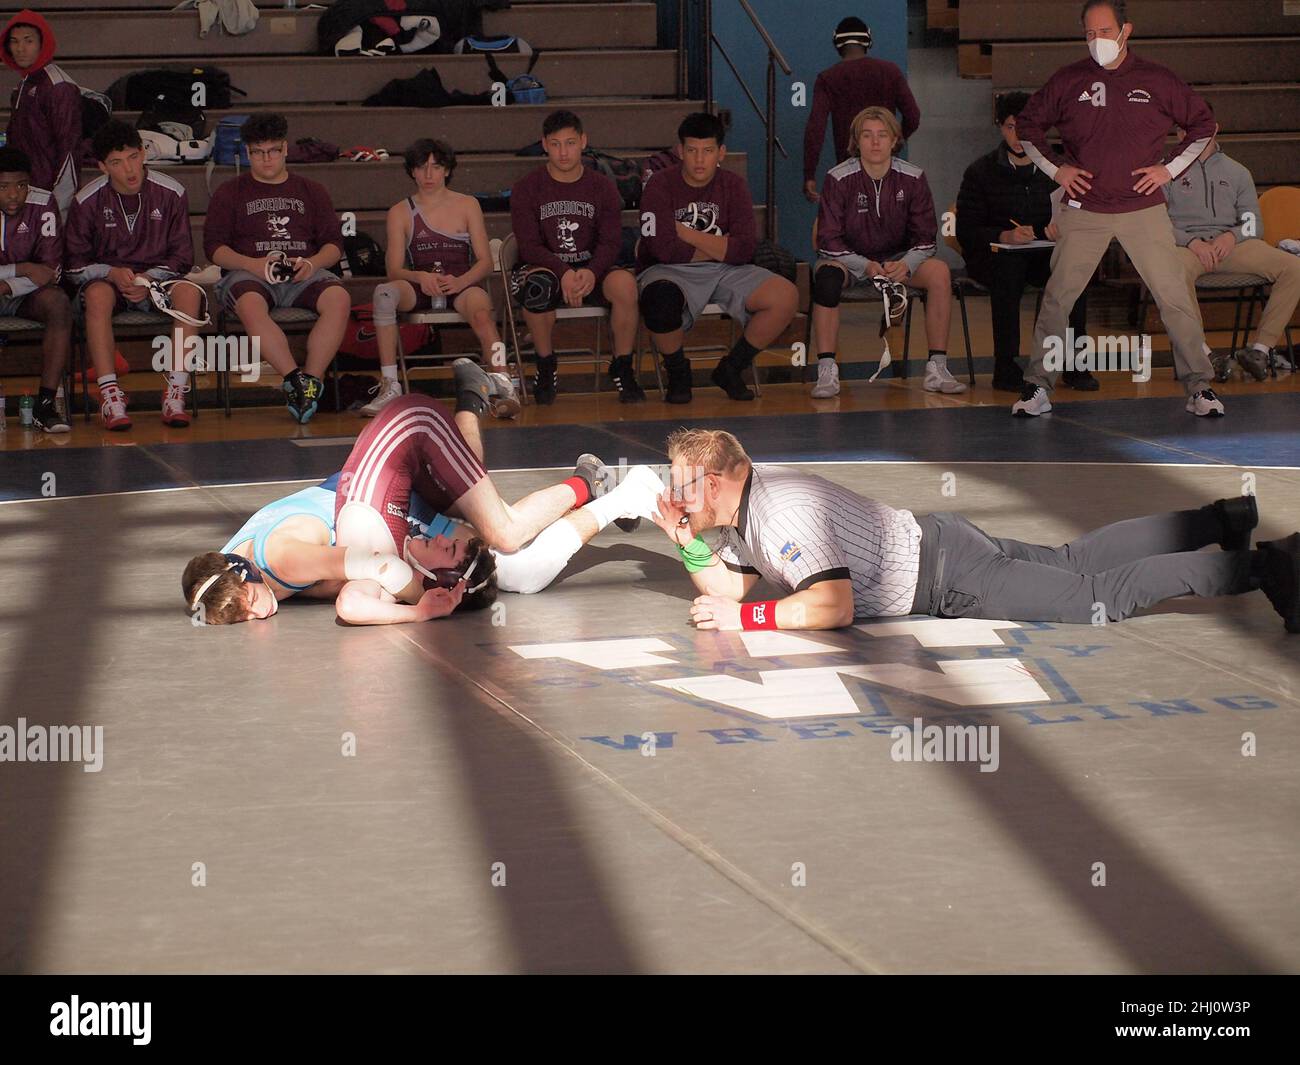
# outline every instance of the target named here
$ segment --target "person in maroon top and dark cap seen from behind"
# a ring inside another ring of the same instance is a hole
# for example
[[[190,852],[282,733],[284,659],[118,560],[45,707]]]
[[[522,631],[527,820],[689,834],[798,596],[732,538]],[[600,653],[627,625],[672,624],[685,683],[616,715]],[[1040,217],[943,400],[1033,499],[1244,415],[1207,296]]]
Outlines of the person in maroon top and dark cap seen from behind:
[[[816,163],[826,143],[826,120],[831,120],[831,150],[836,164],[853,157],[849,127],[863,108],[883,107],[902,116],[902,139],[920,127],[920,108],[907,87],[907,79],[894,64],[867,56],[871,30],[861,18],[844,18],[835,27],[835,51],[840,61],[816,75],[812,85],[812,113],[803,130],[803,195],[816,203]]]

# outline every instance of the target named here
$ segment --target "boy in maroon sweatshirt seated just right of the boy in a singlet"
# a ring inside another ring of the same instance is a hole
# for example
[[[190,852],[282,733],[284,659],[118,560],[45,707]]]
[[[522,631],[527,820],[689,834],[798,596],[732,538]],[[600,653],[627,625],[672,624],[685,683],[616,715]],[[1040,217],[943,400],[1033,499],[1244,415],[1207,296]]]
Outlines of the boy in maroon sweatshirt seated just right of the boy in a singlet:
[[[510,218],[519,241],[515,283],[537,347],[538,403],[555,402],[555,311],[594,304],[610,308],[614,359],[610,377],[620,403],[644,403],[632,352],[637,345],[637,280],[619,265],[623,198],[614,181],[582,165],[586,134],[572,111],[542,122],[546,165],[511,190]]]

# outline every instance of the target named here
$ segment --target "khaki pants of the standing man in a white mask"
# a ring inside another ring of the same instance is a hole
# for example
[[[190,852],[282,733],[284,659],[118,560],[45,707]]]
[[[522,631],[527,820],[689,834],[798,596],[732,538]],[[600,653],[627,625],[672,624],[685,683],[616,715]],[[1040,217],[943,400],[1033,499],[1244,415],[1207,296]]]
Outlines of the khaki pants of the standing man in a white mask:
[[[1044,367],[1048,338],[1063,338],[1070,308],[1087,287],[1110,239],[1119,241],[1139,276],[1147,282],[1174,348],[1174,372],[1191,395],[1206,388],[1214,377],[1205,354],[1196,300],[1187,286],[1187,272],[1174,243],[1169,209],[1148,207],[1124,215],[1065,208],[1057,218],[1061,233],[1052,254],[1052,277],[1043,293],[1043,309],[1034,326],[1034,358],[1024,380],[1048,391],[1056,373]]]

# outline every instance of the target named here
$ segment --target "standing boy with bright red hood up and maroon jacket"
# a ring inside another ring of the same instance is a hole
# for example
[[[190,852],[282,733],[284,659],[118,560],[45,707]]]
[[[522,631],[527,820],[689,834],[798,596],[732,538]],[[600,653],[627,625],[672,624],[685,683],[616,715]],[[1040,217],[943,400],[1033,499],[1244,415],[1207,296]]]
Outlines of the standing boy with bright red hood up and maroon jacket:
[[[39,14],[21,10],[4,27],[0,59],[22,75],[9,101],[8,143],[31,160],[31,183],[48,189],[68,216],[78,177],[81,88],[51,62],[55,34]]]

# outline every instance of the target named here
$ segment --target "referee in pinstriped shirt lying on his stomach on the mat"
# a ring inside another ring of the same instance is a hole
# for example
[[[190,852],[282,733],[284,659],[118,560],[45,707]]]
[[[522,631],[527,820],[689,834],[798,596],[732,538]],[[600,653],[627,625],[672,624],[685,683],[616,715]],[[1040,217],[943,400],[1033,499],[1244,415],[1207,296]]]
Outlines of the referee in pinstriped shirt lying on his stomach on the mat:
[[[841,485],[755,467],[719,429],[668,437],[655,524],[677,546],[707,629],[841,628],[854,618],[1118,622],[1174,596],[1261,589],[1300,632],[1300,533],[1251,550],[1253,495],[1118,521],[1061,547],[987,536],[959,514],[915,518]],[[714,544],[702,533],[722,529]],[[1200,551],[1217,544],[1222,551]],[[741,602],[759,577],[786,594]]]

